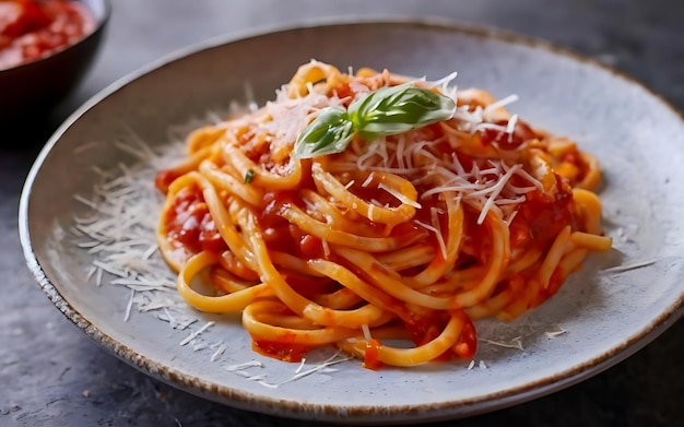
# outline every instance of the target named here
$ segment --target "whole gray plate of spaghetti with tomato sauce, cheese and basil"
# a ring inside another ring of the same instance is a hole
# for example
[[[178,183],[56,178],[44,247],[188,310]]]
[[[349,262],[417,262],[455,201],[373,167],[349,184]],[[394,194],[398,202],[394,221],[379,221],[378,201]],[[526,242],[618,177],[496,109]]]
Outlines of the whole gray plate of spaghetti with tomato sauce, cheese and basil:
[[[683,134],[637,82],[522,36],[226,36],[62,124],[20,235],[59,310],[172,386],[300,419],[458,418],[682,315]]]

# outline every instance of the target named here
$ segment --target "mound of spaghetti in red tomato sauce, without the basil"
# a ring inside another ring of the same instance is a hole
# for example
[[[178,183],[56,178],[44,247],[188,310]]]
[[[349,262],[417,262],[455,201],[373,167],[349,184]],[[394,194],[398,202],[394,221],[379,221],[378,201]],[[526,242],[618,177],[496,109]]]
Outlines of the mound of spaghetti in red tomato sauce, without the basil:
[[[597,161],[449,83],[311,61],[260,109],[193,131],[185,161],[156,179],[157,239],[182,298],[241,311],[271,357],[338,346],[367,368],[408,367],[472,358],[473,320],[520,316],[610,249]],[[352,116],[403,87],[453,109],[380,135]],[[335,151],[298,155],[328,119],[339,127],[319,140]]]

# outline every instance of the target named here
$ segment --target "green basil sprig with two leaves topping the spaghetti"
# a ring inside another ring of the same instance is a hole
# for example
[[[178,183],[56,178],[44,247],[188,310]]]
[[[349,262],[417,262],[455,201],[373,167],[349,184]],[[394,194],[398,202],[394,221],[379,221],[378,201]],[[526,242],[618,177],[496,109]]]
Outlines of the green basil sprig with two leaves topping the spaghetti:
[[[342,153],[356,134],[373,141],[448,120],[455,111],[453,99],[411,83],[382,87],[356,98],[346,110],[325,108],[297,138],[294,155]]]

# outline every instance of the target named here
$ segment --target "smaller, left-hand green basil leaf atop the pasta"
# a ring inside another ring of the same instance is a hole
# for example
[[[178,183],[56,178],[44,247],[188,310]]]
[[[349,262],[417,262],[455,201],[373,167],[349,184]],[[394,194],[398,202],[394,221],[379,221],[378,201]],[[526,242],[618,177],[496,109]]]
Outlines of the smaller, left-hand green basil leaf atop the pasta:
[[[299,158],[342,153],[354,138],[354,124],[343,108],[325,108],[295,142]]]

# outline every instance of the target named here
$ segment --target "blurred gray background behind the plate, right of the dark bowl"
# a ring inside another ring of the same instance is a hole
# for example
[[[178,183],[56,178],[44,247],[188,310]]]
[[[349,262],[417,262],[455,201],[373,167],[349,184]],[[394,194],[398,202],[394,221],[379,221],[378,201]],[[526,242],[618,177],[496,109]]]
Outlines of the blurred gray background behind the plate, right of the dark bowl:
[[[111,0],[101,56],[54,120],[122,75],[225,33],[330,17],[424,16],[483,24],[571,48],[684,97],[684,3],[680,0]],[[142,37],[141,37],[142,36]],[[668,67],[663,69],[663,66]],[[674,79],[669,79],[673,76]]]

